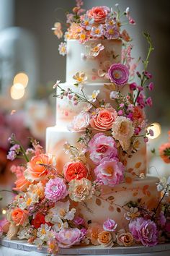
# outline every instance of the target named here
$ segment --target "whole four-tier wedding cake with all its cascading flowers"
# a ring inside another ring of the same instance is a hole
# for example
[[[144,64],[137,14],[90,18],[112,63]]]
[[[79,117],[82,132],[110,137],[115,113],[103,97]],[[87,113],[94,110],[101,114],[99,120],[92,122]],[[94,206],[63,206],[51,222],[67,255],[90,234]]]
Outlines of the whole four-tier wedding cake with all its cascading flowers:
[[[2,231],[53,254],[75,244],[155,246],[169,240],[170,182],[147,176],[151,38],[144,33],[148,54],[139,72],[122,29],[123,19],[135,25],[129,8],[85,11],[82,4],[77,0],[67,14],[66,41],[58,48],[66,55],[66,82],[53,86],[56,124],[47,129],[46,153],[35,140],[24,151],[14,135],[9,139],[8,158],[22,153],[27,163],[12,168],[19,194]],[[60,22],[53,29],[63,37]]]

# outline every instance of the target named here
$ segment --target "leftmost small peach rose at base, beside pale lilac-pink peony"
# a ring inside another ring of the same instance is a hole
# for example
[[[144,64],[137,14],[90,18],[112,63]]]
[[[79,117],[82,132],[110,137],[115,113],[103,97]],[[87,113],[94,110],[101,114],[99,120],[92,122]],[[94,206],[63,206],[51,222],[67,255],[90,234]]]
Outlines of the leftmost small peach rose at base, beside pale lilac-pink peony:
[[[91,240],[91,243],[94,245],[99,245],[99,233],[103,231],[102,225],[99,223],[91,223],[87,229],[86,236]]]

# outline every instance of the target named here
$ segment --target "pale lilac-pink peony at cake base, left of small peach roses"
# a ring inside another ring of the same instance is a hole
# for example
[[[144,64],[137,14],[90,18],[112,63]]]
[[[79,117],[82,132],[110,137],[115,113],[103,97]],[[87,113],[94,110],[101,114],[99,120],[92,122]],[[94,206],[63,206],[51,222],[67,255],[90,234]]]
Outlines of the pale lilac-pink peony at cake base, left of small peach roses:
[[[82,234],[79,229],[61,229],[56,235],[55,239],[58,247],[69,248],[74,244],[79,244],[82,239]]]

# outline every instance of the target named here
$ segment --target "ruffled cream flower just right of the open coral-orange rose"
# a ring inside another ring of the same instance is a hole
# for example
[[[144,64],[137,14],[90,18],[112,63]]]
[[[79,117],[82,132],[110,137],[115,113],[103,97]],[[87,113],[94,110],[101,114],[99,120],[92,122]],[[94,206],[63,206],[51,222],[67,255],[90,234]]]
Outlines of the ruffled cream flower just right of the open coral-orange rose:
[[[117,116],[112,124],[112,137],[119,140],[123,150],[130,147],[130,139],[134,134],[133,122],[125,116]]]

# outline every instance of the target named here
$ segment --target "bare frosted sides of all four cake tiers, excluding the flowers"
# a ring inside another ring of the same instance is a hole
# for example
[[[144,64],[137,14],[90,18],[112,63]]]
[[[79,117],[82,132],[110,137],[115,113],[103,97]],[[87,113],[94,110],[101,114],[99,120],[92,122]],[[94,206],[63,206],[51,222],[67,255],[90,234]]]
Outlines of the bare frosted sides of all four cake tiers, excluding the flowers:
[[[88,57],[86,53],[89,48],[101,44],[104,50],[98,56]],[[117,109],[117,103],[110,98],[110,89],[115,92],[120,92],[127,96],[130,92],[130,85],[118,86],[111,84],[108,78],[99,77],[97,70],[104,69],[104,65],[111,65],[121,62],[122,40],[107,40],[107,39],[91,39],[86,43],[81,44],[79,40],[67,41],[67,56],[66,56],[66,83],[61,84],[61,88],[68,90],[70,88],[74,92],[81,92],[79,86],[76,88],[73,74],[83,72],[86,74],[86,82],[84,82],[84,95],[92,95],[95,90],[99,90],[98,100],[109,103],[113,108]],[[83,57],[82,57],[83,56]],[[85,56],[85,57],[84,57]],[[107,72],[108,67],[106,67]],[[96,71],[96,72],[95,72]],[[103,71],[104,72],[104,71]],[[57,88],[57,94],[60,95],[61,89]],[[57,98],[56,103],[56,125],[49,127],[46,133],[46,151],[56,155],[58,169],[62,172],[63,167],[67,162],[70,162],[69,154],[66,155],[63,145],[69,142],[70,145],[80,148],[79,137],[84,134],[81,132],[82,120],[75,117],[87,107],[89,103],[78,103],[76,106],[68,97],[63,96]],[[95,104],[95,103],[94,103]],[[97,104],[95,104],[97,106]],[[71,123],[74,130],[71,129]],[[103,132],[102,129],[94,129],[93,134]],[[108,135],[108,131],[104,131]],[[145,203],[148,208],[155,208],[158,205],[159,193],[156,189],[158,179],[154,177],[146,177],[146,142],[143,137],[139,140],[138,150],[130,155],[123,153],[119,155],[122,163],[125,165],[125,178],[114,187],[103,186],[102,195],[93,197],[86,202],[86,205],[79,205],[76,208],[86,221],[99,221],[102,223],[106,218],[114,218],[120,227],[125,227],[128,221],[124,218],[127,209],[122,206],[130,201],[138,201]],[[86,153],[86,164],[89,166],[89,171],[94,178],[95,164],[91,161]],[[129,183],[128,183],[128,177]],[[141,179],[141,177],[143,177]],[[102,198],[104,200],[102,200]],[[108,198],[112,198],[111,202]]]

